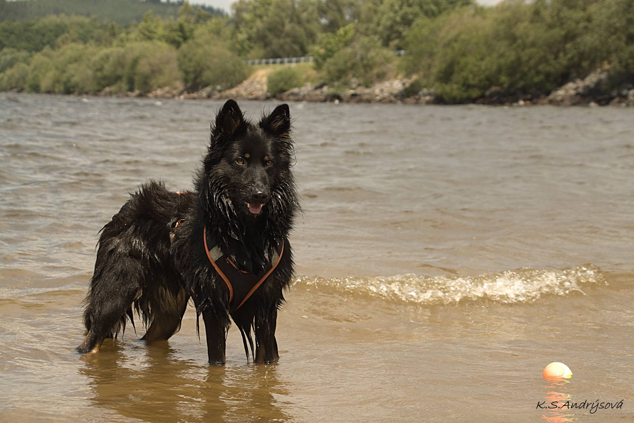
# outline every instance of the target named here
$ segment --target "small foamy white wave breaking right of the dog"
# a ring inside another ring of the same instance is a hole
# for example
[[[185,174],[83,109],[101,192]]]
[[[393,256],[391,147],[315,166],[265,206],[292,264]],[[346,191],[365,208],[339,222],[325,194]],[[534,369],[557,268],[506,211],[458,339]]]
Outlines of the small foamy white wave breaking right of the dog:
[[[475,277],[426,277],[413,274],[391,277],[300,277],[295,285],[369,295],[417,304],[455,304],[488,299],[498,303],[531,303],[542,296],[585,295],[583,285],[607,285],[604,273],[593,264],[565,269],[521,268]]]

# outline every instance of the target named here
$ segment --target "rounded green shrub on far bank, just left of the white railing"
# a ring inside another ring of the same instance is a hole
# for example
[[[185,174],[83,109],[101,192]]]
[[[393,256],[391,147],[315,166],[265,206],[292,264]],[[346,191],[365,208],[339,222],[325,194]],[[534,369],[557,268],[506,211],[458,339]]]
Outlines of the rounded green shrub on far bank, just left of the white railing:
[[[178,49],[178,68],[190,91],[214,86],[228,89],[249,75],[246,63],[213,38],[197,38]]]

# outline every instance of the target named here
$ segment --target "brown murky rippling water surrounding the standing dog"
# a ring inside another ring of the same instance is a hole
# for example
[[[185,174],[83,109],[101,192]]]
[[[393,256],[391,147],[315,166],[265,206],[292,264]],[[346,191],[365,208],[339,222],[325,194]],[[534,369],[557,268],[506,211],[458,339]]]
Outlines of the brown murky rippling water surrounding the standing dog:
[[[191,308],[75,353],[97,231],[149,178],[190,187],[217,106],[0,93],[0,420],[634,419],[629,109],[292,104],[280,362],[233,327],[210,367]],[[568,400],[624,401],[536,409]]]

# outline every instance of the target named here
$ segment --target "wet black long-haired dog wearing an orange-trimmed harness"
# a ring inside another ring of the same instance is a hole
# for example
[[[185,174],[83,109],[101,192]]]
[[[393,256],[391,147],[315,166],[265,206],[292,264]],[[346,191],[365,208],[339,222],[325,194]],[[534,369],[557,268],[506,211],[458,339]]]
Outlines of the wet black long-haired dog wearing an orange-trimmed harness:
[[[174,193],[151,181],[103,227],[86,297],[86,339],[77,350],[134,325],[142,339],[178,332],[190,297],[202,314],[209,362],[223,364],[229,317],[249,360],[278,359],[277,311],[293,275],[288,233],[299,211],[291,172],[294,148],[288,105],[258,124],[227,101],[211,127],[195,191]],[[256,334],[256,349],[251,329]]]

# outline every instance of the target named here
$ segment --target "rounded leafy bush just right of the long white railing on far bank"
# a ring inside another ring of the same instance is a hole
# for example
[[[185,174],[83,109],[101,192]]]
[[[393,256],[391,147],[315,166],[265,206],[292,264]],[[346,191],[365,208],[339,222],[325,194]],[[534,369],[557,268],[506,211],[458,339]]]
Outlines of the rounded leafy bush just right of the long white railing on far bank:
[[[370,86],[392,74],[393,62],[394,55],[377,37],[361,37],[328,59],[323,71],[329,84],[349,84],[356,79]]]

